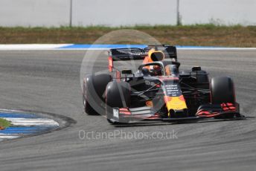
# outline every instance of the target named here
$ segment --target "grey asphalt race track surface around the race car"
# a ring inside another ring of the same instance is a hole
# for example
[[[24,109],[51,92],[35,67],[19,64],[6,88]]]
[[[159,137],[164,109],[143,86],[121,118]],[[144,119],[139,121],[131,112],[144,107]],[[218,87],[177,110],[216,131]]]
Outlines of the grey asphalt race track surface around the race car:
[[[234,79],[246,120],[109,125],[83,113],[84,51],[1,51],[0,108],[63,114],[77,121],[45,135],[0,143],[0,170],[255,170],[256,51],[178,51],[182,68],[201,65]],[[97,62],[106,68],[106,56]],[[167,138],[79,138],[85,132],[177,132]]]

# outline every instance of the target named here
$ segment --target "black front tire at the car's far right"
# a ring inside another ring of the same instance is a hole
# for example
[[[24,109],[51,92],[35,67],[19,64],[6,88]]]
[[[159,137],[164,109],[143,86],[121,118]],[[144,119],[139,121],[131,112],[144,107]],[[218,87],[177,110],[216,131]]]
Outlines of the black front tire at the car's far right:
[[[236,103],[234,83],[230,77],[214,77],[211,79],[211,103]]]

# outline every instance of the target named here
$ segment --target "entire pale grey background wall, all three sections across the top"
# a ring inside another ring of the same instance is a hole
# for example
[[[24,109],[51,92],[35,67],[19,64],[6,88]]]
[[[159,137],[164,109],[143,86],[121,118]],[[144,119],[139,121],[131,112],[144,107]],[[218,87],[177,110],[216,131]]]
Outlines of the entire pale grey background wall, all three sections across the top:
[[[0,26],[68,26],[71,0],[1,0]],[[74,26],[176,25],[176,0],[72,0]],[[255,0],[179,0],[183,25],[256,25]]]

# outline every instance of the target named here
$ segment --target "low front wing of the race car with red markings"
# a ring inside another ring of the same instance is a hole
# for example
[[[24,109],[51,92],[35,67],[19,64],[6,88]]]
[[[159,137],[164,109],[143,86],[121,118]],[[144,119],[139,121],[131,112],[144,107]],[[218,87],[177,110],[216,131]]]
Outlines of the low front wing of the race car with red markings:
[[[111,118],[108,118],[112,123],[134,123],[137,121],[167,121],[179,122],[185,120],[201,120],[207,118],[216,119],[243,119],[244,116],[240,114],[239,104],[222,103],[220,105],[205,104],[199,106],[196,114],[193,117],[161,117],[151,107],[139,108],[113,108]]]

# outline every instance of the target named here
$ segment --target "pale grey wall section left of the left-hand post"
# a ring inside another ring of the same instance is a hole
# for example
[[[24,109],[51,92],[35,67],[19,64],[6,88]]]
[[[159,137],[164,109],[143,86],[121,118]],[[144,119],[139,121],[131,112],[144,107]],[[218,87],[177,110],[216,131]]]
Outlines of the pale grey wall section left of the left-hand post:
[[[69,24],[69,0],[1,0],[0,25],[60,27]]]

